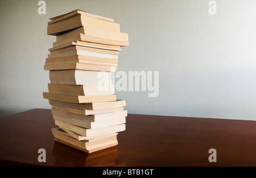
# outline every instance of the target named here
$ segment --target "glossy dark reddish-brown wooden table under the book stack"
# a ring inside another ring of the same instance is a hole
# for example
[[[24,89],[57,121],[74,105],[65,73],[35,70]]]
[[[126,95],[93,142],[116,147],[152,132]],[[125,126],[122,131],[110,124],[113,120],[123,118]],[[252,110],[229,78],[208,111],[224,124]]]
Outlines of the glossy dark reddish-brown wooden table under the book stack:
[[[256,166],[256,122],[228,119],[127,116],[119,145],[86,154],[55,142],[49,109],[0,118],[0,164],[46,166]],[[38,150],[46,150],[46,163]],[[209,149],[217,163],[209,163]]]

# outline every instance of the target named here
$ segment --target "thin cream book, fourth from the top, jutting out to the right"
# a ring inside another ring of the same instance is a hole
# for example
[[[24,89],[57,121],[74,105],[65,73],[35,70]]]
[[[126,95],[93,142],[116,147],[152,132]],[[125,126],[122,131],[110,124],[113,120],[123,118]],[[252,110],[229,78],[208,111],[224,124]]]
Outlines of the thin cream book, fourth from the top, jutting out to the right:
[[[63,40],[58,40],[56,42],[53,42],[53,47],[59,47],[61,45],[65,45],[65,44],[68,44],[71,42],[77,42],[77,40],[79,40],[81,42],[108,44],[108,45],[115,45],[115,46],[120,46],[120,47],[129,45],[129,42],[126,42],[126,41],[109,40],[109,39],[104,39],[104,38],[98,38],[95,36],[79,34],[79,35],[71,36],[69,38],[65,38]]]

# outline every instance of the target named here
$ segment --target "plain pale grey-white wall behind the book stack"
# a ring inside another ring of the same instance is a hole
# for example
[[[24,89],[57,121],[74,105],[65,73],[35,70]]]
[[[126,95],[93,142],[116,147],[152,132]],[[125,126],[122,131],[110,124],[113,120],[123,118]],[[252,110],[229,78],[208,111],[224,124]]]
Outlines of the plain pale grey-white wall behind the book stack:
[[[2,0],[0,115],[51,108],[43,99],[48,19],[76,9],[115,19],[129,35],[118,71],[159,71],[159,96],[116,92],[134,114],[225,119],[256,118],[256,1]]]

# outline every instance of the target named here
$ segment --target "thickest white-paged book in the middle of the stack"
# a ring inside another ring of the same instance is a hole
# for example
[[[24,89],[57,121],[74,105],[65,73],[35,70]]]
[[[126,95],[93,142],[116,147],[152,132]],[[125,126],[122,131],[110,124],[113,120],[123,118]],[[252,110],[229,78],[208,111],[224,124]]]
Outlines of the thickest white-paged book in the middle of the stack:
[[[69,85],[98,85],[102,80],[100,74],[106,77],[106,84],[111,85],[111,73],[99,71],[84,70],[57,70],[49,71],[49,79],[51,83],[69,84]],[[99,76],[99,77],[98,77]]]

